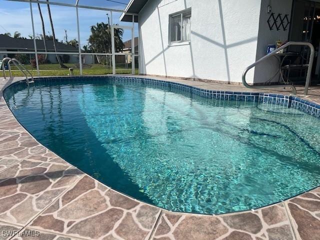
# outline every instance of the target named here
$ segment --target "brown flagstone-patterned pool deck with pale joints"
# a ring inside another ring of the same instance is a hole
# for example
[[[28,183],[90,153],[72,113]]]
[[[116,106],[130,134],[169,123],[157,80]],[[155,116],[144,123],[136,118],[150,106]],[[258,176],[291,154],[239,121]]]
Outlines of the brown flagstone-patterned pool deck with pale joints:
[[[152,78],[205,89],[270,92]],[[0,239],[320,239],[320,187],[270,206],[221,215],[174,213],[110,189],[42,146],[18,123],[2,90],[20,79],[0,78]],[[297,95],[302,92],[297,87]],[[320,103],[320,87],[311,87],[303,98]]]

